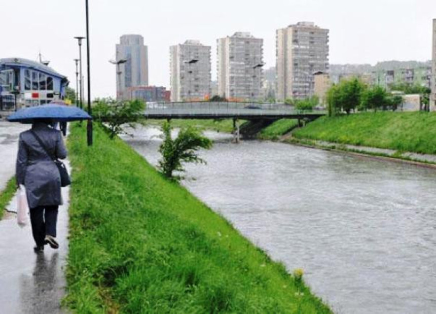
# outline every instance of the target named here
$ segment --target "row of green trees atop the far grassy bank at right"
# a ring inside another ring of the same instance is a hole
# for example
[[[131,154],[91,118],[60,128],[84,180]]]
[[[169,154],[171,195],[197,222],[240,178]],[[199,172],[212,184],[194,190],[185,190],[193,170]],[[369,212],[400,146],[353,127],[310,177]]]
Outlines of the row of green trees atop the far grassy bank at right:
[[[404,94],[420,94],[421,107],[428,105],[429,89],[427,87],[397,84],[389,86],[392,91],[401,91]],[[341,81],[333,85],[326,94],[329,115],[334,116],[340,112],[349,114],[351,111],[392,110],[395,111],[403,103],[403,97],[392,94],[385,88],[375,85],[367,86],[359,79]]]

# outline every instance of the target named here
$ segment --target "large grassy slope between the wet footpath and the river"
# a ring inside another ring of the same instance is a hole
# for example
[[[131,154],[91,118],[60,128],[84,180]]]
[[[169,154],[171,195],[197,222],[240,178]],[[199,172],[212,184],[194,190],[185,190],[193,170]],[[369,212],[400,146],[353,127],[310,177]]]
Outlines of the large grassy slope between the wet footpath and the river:
[[[76,125],[68,148],[70,309],[330,312],[282,264],[120,139],[96,127],[87,148],[85,128]]]

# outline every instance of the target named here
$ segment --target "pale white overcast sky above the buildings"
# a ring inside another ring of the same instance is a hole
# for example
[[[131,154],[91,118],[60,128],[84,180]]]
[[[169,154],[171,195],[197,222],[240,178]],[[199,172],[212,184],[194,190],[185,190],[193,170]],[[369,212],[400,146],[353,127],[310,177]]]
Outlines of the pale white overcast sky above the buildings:
[[[216,39],[249,31],[264,39],[266,68],[275,65],[275,31],[299,21],[330,29],[331,63],[431,58],[436,0],[90,0],[92,97],[115,95],[115,44],[136,33],[149,47],[149,83],[169,88],[169,46],[187,39],[212,47]],[[78,46],[85,36],[85,0],[14,0],[0,6],[0,58],[45,59],[76,86]],[[83,48],[86,49],[86,46]],[[85,56],[85,49],[83,54]],[[84,73],[86,64],[84,63]]]

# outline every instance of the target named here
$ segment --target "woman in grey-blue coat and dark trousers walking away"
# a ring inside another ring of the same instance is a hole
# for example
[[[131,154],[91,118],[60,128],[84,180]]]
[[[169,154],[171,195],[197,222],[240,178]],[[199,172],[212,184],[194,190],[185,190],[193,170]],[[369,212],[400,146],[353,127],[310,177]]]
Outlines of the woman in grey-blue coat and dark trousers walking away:
[[[26,188],[35,253],[42,252],[45,244],[59,248],[55,238],[62,196],[59,169],[53,160],[64,159],[67,152],[61,132],[50,123],[38,120],[20,134],[18,142],[16,179],[17,185]]]

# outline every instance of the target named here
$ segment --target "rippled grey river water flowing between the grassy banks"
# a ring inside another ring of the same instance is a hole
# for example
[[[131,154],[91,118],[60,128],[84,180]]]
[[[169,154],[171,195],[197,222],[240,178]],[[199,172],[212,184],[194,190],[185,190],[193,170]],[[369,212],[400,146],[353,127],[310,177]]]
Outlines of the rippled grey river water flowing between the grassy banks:
[[[157,134],[125,139],[157,164]],[[436,312],[436,170],[206,135],[183,184],[335,312]]]

